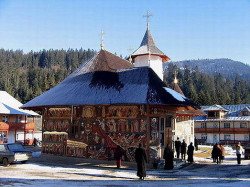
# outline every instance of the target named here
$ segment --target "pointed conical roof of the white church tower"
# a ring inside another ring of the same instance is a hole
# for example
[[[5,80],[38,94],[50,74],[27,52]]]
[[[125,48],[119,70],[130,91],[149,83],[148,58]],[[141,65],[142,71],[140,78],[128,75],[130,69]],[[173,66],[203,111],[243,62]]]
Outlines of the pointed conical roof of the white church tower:
[[[154,39],[151,35],[149,27],[147,27],[146,33],[142,39],[140,47],[131,55],[132,59],[141,55],[156,55],[162,58],[162,62],[170,60],[160,49],[155,45]]]

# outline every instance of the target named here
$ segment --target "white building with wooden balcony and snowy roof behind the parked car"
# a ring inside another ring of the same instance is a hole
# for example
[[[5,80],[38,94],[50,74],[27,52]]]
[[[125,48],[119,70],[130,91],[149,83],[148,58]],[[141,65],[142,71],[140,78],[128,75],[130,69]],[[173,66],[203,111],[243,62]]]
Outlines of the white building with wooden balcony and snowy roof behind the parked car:
[[[0,91],[0,143],[33,143],[34,118],[39,115],[30,110],[20,109],[22,105],[6,91]],[[28,116],[31,116],[31,121],[28,121]]]

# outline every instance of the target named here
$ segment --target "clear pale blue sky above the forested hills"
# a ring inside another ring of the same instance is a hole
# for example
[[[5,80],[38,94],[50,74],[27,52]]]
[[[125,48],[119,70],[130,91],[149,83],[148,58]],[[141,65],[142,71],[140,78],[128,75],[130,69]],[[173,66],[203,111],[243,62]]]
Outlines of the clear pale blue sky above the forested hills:
[[[250,0],[0,0],[0,48],[100,50],[128,56],[146,31],[172,61],[250,64]]]

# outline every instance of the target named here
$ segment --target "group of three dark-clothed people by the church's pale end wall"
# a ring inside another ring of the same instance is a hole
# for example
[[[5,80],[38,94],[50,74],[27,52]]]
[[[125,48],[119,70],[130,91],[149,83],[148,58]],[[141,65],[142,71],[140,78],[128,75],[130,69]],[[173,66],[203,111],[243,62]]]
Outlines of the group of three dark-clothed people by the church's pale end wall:
[[[187,161],[189,163],[194,162],[194,146],[193,143],[191,142],[188,146],[187,150],[187,144],[185,140],[182,142],[179,140],[179,137],[177,137],[177,140],[174,142],[175,145],[175,151],[176,151],[176,157],[180,158],[180,153],[181,153],[181,159],[186,160],[186,154],[188,155]]]

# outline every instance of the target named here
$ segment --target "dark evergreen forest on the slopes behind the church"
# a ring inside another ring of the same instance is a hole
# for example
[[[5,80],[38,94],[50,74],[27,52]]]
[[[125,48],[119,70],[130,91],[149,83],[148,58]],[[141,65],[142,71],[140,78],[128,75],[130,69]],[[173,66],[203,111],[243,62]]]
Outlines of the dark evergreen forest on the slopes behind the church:
[[[95,53],[92,49],[29,53],[0,49],[0,90],[26,103],[56,86]],[[197,67],[179,69],[170,63],[164,72],[168,86],[173,82],[174,71],[178,72],[183,93],[199,105],[250,103],[250,84],[239,76],[231,80],[221,74],[201,73]]]

